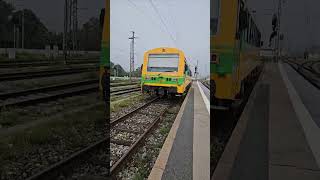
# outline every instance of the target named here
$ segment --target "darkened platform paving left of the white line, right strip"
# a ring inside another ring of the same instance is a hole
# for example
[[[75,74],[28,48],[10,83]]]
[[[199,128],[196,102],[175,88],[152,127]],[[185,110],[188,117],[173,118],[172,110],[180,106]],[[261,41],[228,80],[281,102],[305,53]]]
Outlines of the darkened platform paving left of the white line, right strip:
[[[278,64],[266,63],[212,179],[320,179],[296,103]]]

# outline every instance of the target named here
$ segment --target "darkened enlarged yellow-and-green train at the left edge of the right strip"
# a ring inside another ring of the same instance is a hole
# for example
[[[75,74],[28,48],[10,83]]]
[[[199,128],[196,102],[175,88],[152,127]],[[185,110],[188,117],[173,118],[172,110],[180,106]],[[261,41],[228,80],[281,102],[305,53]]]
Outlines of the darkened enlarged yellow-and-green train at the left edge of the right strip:
[[[210,18],[211,108],[241,102],[261,71],[261,33],[244,0],[213,0]]]

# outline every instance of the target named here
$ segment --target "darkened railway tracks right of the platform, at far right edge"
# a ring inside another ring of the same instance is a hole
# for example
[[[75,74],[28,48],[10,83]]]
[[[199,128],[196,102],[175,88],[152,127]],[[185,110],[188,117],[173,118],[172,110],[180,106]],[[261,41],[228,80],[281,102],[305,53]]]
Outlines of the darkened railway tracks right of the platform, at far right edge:
[[[294,61],[284,61],[289,64],[298,74],[309,81],[313,86],[320,89],[320,72],[315,68],[320,61],[308,61],[304,63],[297,63]]]

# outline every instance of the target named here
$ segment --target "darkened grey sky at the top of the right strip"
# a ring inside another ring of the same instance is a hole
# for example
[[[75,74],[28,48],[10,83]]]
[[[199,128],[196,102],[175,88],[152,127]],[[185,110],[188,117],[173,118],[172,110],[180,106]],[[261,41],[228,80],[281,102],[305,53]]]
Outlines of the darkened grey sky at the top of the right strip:
[[[278,0],[247,0],[249,6],[257,11],[257,24],[264,35],[264,44],[268,44],[271,33],[272,14],[277,11]],[[285,35],[283,46],[289,51],[302,53],[305,48],[320,44],[320,1],[285,0],[282,8],[282,31]],[[271,15],[268,15],[271,14]],[[306,22],[310,16],[310,24]]]

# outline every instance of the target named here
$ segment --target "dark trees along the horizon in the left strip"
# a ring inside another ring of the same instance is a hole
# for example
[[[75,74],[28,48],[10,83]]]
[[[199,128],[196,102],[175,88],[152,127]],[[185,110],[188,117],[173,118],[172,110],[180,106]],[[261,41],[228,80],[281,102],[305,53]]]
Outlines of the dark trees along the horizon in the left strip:
[[[23,12],[22,12],[23,11]],[[15,8],[0,0],[0,48],[14,47],[14,26],[22,30],[24,13],[24,47],[27,49],[44,49],[46,45],[57,45],[63,49],[63,33],[50,32],[30,9],[15,11]],[[97,17],[92,17],[77,32],[78,50],[98,51],[101,42],[101,27]],[[17,38],[21,46],[21,36]]]

